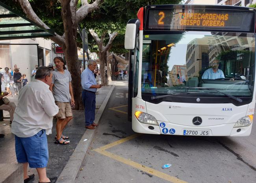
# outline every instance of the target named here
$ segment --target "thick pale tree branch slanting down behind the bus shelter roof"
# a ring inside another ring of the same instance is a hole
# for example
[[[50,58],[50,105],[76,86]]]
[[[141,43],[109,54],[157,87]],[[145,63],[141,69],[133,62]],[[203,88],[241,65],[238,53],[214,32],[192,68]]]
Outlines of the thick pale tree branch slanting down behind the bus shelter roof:
[[[39,26],[42,26],[45,29],[50,29],[33,11],[30,2],[28,0],[19,0],[20,6],[22,7],[23,12],[28,16],[30,20],[33,22],[37,23]],[[64,45],[65,44],[65,39],[55,33],[54,37],[49,37],[52,41],[59,45]]]

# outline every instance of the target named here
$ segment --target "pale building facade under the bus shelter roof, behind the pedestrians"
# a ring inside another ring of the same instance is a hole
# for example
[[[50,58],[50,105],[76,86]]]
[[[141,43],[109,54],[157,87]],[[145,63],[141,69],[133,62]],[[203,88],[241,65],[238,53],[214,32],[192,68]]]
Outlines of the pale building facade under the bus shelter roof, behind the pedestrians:
[[[43,38],[12,39],[0,41],[0,67],[13,70],[16,64],[21,74],[31,81],[31,72],[35,65],[48,65],[51,62],[52,45]]]

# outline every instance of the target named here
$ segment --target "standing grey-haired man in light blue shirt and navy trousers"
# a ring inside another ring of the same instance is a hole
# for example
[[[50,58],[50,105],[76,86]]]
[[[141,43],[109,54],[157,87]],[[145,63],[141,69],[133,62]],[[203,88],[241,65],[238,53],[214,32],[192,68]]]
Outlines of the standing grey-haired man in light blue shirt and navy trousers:
[[[97,64],[96,61],[90,59],[87,63],[87,68],[81,74],[82,84],[82,100],[84,105],[85,114],[85,128],[95,129],[98,124],[94,123],[95,108],[96,108],[96,91],[101,85],[98,85],[94,77],[94,70]]]

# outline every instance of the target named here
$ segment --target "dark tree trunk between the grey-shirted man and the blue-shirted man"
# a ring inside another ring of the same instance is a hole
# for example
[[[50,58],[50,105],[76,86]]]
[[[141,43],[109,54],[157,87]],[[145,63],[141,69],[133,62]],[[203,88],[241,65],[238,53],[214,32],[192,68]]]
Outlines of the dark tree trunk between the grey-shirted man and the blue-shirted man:
[[[74,41],[75,42],[75,41]],[[75,43],[76,44],[76,43]],[[75,107],[74,110],[83,110],[83,103],[82,103],[82,87],[81,87],[81,70],[78,61],[77,55],[77,47],[69,47],[64,50],[65,60],[67,62],[67,67],[71,74],[71,84],[73,88],[73,95],[75,100]]]

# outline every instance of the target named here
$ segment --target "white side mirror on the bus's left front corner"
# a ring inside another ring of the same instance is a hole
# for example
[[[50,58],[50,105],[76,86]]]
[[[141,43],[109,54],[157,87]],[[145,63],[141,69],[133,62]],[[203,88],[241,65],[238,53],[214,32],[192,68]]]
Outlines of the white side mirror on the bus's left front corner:
[[[128,21],[125,30],[124,48],[133,50],[135,48],[136,37],[139,30],[139,19],[131,19]]]

